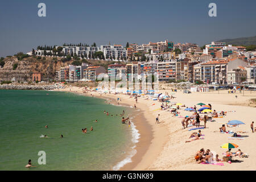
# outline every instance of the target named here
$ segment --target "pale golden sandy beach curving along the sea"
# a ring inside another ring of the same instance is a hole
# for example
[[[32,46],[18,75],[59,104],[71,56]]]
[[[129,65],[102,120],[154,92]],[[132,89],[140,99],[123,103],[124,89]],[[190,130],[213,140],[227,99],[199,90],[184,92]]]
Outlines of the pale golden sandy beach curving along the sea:
[[[56,91],[68,91],[82,94],[82,88],[72,87],[71,90],[59,89]],[[159,93],[169,94],[174,93],[171,90],[159,90]],[[138,97],[138,103],[134,98],[126,94],[102,94],[98,92],[88,92],[86,95],[93,94],[95,97],[109,98],[113,101],[117,98],[121,98],[120,105],[134,106],[136,104],[137,109],[140,110],[140,115],[133,119],[134,125],[139,130],[140,139],[137,143],[137,154],[131,159],[131,163],[127,163],[120,170],[255,170],[256,169],[256,146],[255,134],[251,133],[250,123],[256,121],[255,107],[249,107],[248,103],[251,98],[256,98],[256,93],[234,93],[228,94],[226,90],[207,93],[192,93],[184,94],[180,90],[173,94],[174,99],[171,102],[179,102],[185,106],[191,107],[199,102],[205,104],[211,104],[212,109],[216,111],[227,111],[227,114],[223,118],[213,118],[214,122],[207,122],[207,128],[202,129],[204,139],[195,140],[189,143],[185,143],[189,140],[189,136],[193,131],[188,129],[182,129],[180,117],[173,117],[170,113],[170,109],[158,110],[162,102],[146,100],[147,96]],[[237,98],[235,96],[238,96]],[[112,103],[114,104],[114,103]],[[116,104],[116,102],[115,102]],[[153,105],[154,104],[154,105]],[[200,106],[196,105],[199,109]],[[184,111],[185,107],[181,107],[179,112],[181,116],[192,115],[189,111]],[[156,116],[160,114],[159,123],[155,123]],[[200,114],[202,117],[204,114]],[[242,139],[229,139],[231,134],[220,133],[219,128],[222,124],[230,120],[240,120],[246,125],[240,125],[237,128],[227,127],[227,130],[232,131],[245,131],[246,133],[238,133],[242,135]],[[204,122],[200,123],[203,126]],[[256,124],[254,124],[256,127]],[[224,143],[235,143],[239,147],[232,149],[232,152],[236,152],[241,149],[249,155],[249,158],[234,157],[237,162],[226,163],[224,166],[216,166],[210,164],[197,164],[195,160],[195,154],[200,148],[210,151],[219,155],[222,158],[222,153],[226,151],[225,148],[220,146]]]

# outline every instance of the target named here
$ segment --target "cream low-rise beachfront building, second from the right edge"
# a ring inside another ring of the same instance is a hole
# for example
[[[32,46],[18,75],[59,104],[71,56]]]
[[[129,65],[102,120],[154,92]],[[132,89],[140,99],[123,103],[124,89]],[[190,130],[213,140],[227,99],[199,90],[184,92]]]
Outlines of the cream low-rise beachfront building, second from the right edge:
[[[240,67],[238,69],[233,69],[232,71],[228,71],[228,84],[232,85],[234,83],[241,84],[246,81],[247,71],[245,68]]]

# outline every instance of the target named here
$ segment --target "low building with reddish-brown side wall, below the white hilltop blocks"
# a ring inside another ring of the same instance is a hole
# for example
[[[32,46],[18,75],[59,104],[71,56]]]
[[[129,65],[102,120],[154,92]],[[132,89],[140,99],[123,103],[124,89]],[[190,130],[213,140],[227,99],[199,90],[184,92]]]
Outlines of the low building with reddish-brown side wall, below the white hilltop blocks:
[[[88,67],[84,69],[84,80],[90,80],[95,81],[98,78],[98,75],[101,73],[106,73],[106,70],[104,67],[96,66],[96,67]]]

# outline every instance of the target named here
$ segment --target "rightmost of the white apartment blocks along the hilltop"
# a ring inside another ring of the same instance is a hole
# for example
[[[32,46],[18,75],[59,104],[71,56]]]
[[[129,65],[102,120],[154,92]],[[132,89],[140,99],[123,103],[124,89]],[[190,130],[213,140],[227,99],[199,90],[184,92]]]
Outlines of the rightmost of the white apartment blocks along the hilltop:
[[[114,46],[101,46],[101,51],[106,59],[126,58],[126,49],[121,45],[114,44]]]

